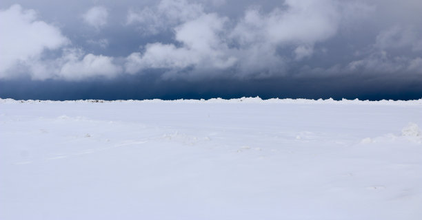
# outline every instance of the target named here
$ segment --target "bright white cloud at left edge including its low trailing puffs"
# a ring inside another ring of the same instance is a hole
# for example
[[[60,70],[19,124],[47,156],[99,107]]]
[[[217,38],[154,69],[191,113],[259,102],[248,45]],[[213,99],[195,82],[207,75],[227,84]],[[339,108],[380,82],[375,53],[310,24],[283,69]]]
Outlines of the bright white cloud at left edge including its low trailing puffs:
[[[37,20],[34,10],[12,5],[0,12],[0,27],[0,78],[26,74],[34,80],[83,80],[122,72],[114,58],[72,47],[59,28]],[[60,55],[51,58],[48,53]]]

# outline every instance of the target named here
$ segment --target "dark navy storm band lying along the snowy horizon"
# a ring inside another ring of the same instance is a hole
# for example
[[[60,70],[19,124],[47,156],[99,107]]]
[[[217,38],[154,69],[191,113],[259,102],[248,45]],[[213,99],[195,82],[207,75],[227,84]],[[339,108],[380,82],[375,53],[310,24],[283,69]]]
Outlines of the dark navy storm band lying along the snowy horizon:
[[[0,80],[0,97],[17,100],[143,100],[161,98],[342,98],[411,100],[421,98],[422,80],[416,76],[383,78],[334,76],[312,78],[221,79],[206,81],[161,80],[158,74],[125,75],[115,80]]]

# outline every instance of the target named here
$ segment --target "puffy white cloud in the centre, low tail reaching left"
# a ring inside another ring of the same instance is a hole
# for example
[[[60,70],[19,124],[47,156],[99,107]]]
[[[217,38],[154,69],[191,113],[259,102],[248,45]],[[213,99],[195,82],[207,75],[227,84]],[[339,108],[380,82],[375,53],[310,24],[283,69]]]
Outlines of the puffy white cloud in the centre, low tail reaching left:
[[[230,56],[227,45],[218,34],[224,30],[227,19],[217,14],[203,14],[201,17],[183,23],[175,28],[176,40],[181,47],[173,44],[152,43],[145,47],[143,54],[128,56],[126,71],[138,72],[148,68],[183,69],[225,69],[234,64],[236,58]]]

